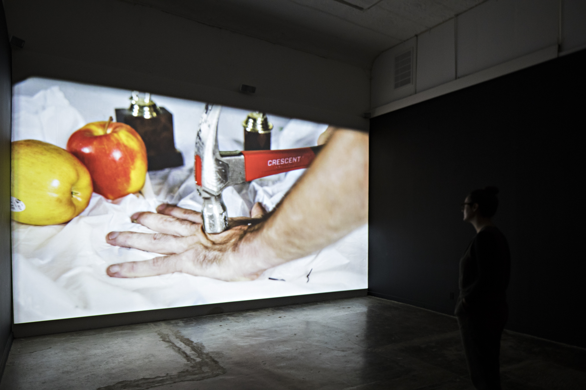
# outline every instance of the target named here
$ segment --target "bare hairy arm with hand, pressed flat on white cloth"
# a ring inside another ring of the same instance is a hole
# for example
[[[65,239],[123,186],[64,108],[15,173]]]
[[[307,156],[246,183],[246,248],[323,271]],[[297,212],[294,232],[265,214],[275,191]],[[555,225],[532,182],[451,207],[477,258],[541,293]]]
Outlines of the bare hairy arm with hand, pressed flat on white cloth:
[[[167,256],[114,264],[108,275],[134,278],[181,271],[250,280],[338,241],[367,221],[368,142],[367,134],[336,129],[273,213],[264,215],[257,204],[253,218],[234,218],[232,227],[220,234],[207,234],[199,213],[175,206],[132,215],[133,221],[159,233],[110,232],[107,242]]]

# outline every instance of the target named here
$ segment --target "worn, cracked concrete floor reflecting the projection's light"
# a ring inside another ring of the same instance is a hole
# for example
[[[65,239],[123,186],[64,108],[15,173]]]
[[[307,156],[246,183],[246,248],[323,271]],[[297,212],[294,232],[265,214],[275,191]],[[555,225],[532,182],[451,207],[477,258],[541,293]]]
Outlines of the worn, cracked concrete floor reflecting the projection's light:
[[[584,389],[586,350],[506,331],[503,389]],[[372,296],[14,340],[1,389],[472,389],[454,317]]]

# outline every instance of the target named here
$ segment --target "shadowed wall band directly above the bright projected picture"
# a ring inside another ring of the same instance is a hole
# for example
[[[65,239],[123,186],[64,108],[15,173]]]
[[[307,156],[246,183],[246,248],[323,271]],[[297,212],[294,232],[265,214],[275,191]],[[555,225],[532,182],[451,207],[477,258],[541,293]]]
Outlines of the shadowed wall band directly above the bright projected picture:
[[[117,0],[4,0],[13,80],[59,78],[366,129],[367,70]],[[240,84],[254,85],[245,95]]]

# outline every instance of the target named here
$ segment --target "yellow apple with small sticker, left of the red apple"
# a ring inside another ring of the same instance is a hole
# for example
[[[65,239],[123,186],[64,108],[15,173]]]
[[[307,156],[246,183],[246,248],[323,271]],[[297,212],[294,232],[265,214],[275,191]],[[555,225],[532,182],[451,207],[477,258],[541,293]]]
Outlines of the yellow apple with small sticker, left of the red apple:
[[[71,220],[90,203],[87,168],[67,150],[25,139],[12,142],[12,219],[30,225]]]

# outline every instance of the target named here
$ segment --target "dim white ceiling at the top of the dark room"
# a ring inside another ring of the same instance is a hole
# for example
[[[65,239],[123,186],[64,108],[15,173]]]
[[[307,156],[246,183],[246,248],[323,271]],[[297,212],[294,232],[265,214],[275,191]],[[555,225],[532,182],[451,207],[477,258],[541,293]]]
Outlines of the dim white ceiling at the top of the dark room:
[[[370,69],[384,50],[486,0],[123,0]]]

